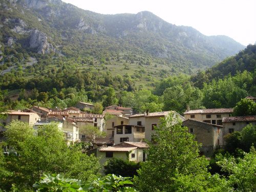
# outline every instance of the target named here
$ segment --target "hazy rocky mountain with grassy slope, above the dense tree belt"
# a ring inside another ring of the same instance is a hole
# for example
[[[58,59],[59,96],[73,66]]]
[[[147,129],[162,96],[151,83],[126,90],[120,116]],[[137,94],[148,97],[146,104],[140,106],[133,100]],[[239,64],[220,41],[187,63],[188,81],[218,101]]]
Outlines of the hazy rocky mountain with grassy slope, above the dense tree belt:
[[[205,36],[148,11],[103,15],[60,0],[1,0],[0,7],[2,75],[70,67],[136,76],[139,68],[149,80],[159,79],[207,69],[245,48],[227,36]]]

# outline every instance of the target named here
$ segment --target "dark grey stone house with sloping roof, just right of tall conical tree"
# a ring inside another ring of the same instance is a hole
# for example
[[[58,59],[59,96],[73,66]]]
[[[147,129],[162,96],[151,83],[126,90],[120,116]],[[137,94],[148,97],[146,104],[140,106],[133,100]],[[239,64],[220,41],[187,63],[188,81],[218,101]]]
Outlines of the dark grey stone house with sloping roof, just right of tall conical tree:
[[[196,135],[196,141],[201,143],[200,154],[211,156],[216,149],[223,147],[223,126],[205,123],[193,119],[182,122],[188,132]]]

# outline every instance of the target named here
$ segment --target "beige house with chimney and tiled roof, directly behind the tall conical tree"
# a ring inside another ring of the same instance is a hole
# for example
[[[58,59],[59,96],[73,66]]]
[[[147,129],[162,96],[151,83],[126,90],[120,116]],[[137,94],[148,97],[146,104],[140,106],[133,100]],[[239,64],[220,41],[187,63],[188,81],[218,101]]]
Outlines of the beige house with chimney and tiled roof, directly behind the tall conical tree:
[[[159,126],[160,118],[166,118],[167,115],[172,113],[181,121],[185,120],[184,117],[182,117],[180,114],[178,114],[175,111],[154,112],[154,113],[149,113],[147,111],[144,114],[136,114],[136,115],[130,116],[129,124],[141,126],[141,130],[145,131],[145,139],[148,141],[151,141],[152,134],[155,134],[154,127]]]

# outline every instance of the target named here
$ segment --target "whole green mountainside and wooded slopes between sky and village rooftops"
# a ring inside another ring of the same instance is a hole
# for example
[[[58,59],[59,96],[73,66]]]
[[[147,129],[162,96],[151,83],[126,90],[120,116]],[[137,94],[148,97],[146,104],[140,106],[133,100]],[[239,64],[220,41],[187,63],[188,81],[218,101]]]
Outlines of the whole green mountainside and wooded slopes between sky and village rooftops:
[[[255,96],[255,45],[242,50],[229,37],[207,37],[150,12],[102,15],[59,0],[0,2],[0,88],[10,109],[84,101],[182,114],[187,104],[229,108]]]

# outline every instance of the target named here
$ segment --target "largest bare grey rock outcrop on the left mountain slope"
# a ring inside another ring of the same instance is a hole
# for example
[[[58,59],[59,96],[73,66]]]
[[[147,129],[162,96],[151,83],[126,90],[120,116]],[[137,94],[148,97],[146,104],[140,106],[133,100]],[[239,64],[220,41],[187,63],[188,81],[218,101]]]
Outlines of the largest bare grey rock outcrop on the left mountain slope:
[[[32,30],[29,45],[31,48],[37,48],[37,53],[50,53],[51,50],[55,51],[53,45],[47,41],[45,33],[38,31],[37,29]]]

